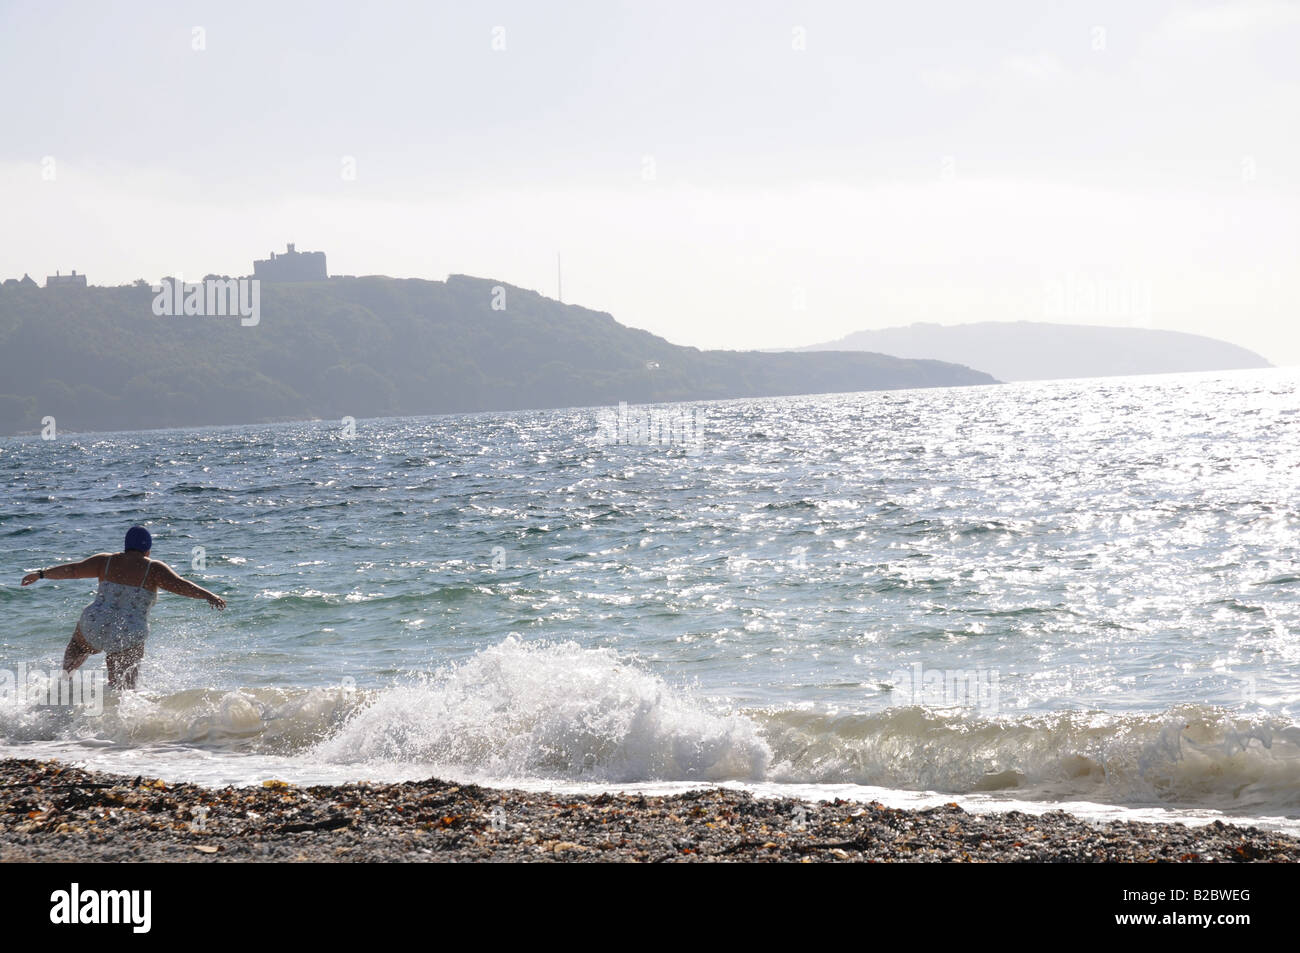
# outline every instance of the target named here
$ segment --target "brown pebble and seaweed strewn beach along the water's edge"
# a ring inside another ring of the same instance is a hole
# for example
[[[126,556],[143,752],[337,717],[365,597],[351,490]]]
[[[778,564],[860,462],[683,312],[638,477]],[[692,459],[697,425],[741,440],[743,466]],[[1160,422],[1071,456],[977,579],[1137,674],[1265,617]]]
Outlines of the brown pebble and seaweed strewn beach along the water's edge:
[[[707,788],[569,796],[462,785],[209,789],[0,761],[0,862],[1297,862],[1300,839],[1214,822],[1091,823]]]

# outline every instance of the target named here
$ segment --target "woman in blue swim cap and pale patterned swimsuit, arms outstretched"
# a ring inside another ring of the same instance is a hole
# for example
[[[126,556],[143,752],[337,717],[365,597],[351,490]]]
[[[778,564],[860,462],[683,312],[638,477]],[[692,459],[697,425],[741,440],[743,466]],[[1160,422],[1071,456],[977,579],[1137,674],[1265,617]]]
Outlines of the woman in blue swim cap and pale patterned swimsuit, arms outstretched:
[[[160,559],[150,559],[153,537],[144,527],[126,530],[122,553],[96,553],[79,563],[65,563],[49,569],[29,572],[23,585],[38,579],[99,579],[95,601],[82,611],[68,650],[64,672],[72,673],[96,653],[108,653],[108,684],[112,688],[135,688],[144,641],[150,637],[150,608],[157,602],[159,589],[191,599],[207,599],[213,608],[225,608],[226,601],[200,585],[181,579]]]

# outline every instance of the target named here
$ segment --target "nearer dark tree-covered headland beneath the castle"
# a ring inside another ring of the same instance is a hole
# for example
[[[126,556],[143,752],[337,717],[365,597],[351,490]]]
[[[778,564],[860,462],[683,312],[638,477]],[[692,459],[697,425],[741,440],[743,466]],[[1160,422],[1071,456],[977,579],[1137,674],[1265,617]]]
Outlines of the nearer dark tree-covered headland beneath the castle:
[[[0,289],[0,432],[988,384],[879,354],[679,347],[482,278],[263,283],[260,320],[153,313],[144,286]],[[494,302],[503,308],[494,308]]]

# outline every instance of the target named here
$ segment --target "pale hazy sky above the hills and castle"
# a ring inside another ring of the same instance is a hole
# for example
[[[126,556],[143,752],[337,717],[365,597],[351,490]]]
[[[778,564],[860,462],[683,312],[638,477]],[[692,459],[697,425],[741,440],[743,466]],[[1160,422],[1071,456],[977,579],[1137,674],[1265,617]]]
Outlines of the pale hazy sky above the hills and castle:
[[[701,347],[1027,319],[1296,364],[1297,51],[1269,1],[0,3],[0,277],[296,242],[554,295],[559,251]]]

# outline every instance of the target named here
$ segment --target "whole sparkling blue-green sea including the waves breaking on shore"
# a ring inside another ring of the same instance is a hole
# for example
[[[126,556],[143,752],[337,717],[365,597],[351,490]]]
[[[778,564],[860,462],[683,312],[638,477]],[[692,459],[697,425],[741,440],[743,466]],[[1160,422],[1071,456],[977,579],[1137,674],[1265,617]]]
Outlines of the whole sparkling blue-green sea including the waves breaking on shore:
[[[21,575],[134,523],[229,608],[162,593],[142,690],[0,699],[0,757],[1300,831],[1297,385],[3,438],[0,670],[95,588]]]

